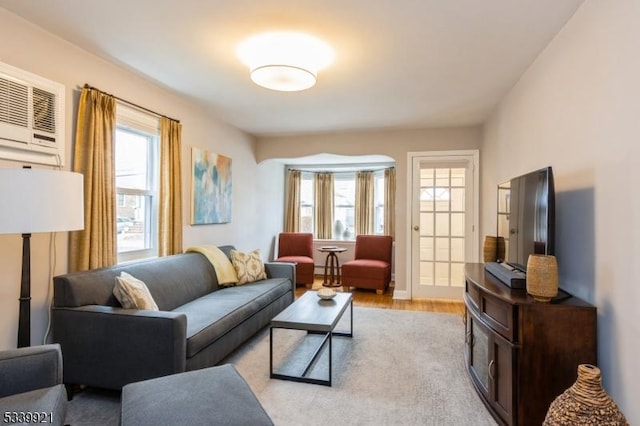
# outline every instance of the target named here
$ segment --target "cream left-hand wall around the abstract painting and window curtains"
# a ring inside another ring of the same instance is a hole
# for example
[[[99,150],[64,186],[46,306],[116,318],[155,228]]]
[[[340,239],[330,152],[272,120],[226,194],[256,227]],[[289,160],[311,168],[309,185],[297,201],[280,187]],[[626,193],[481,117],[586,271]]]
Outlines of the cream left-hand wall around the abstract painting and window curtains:
[[[201,106],[174,92],[144,80],[137,73],[125,70],[77,48],[0,8],[0,61],[24,69],[66,86],[66,150],[65,167],[73,157],[72,139],[78,88],[89,83],[106,92],[177,118],[183,125],[183,203],[184,247],[194,244],[235,244],[243,250],[260,248],[268,251],[272,237],[265,233],[281,225],[282,202],[271,208],[276,213],[263,215],[263,200],[269,200],[267,182],[271,175],[282,174],[281,167],[261,165],[255,161],[255,140],[245,133],[217,120]],[[224,225],[189,226],[191,147],[197,146],[232,158],[233,207],[232,221]],[[21,164],[0,162],[1,167]],[[253,188],[263,189],[257,193]],[[265,190],[266,188],[266,190]],[[281,188],[276,188],[280,190]],[[1,201],[0,201],[1,202]],[[274,218],[274,214],[279,214]],[[49,234],[32,237],[32,343],[42,342],[47,326],[49,291]],[[16,346],[18,297],[20,287],[21,238],[0,235],[0,349]],[[53,275],[67,271],[67,234],[56,235],[53,251],[57,263]]]

